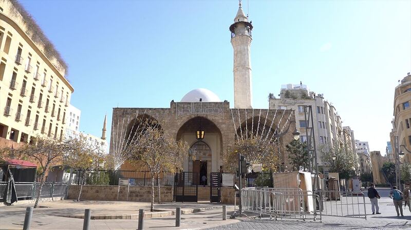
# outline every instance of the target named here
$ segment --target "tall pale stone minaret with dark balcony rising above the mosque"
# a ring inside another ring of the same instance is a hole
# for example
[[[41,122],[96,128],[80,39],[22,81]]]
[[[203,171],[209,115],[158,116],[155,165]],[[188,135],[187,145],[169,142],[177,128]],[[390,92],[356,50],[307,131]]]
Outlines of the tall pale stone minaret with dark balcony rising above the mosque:
[[[251,30],[253,25],[241,8],[239,1],[234,24],[230,26],[231,44],[234,49],[234,108],[251,108]]]

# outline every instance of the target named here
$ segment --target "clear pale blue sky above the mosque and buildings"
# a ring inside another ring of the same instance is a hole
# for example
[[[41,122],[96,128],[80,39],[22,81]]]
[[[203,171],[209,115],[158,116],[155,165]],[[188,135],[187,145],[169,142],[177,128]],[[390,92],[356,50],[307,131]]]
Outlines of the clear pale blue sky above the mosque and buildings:
[[[233,100],[238,1],[21,1],[69,65],[80,130],[113,107],[169,107],[194,88]],[[385,154],[394,88],[411,71],[411,1],[243,1],[253,22],[253,107],[308,85]]]

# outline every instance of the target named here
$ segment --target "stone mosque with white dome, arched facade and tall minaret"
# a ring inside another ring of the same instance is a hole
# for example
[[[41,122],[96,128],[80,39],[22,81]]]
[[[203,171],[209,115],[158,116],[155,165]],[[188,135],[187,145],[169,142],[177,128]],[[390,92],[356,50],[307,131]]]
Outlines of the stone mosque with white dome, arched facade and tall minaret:
[[[180,102],[171,101],[169,108],[113,108],[110,152],[114,151],[119,138],[128,137],[136,129],[136,118],[148,118],[162,122],[166,134],[184,140],[196,150],[196,160],[185,160],[184,171],[198,172],[200,177],[204,173],[218,172],[220,168],[224,170],[223,155],[236,138],[242,138],[245,128],[285,133],[279,138],[279,159],[291,168],[285,146],[293,139],[294,110],[252,108],[250,48],[253,26],[241,5],[229,29],[234,50],[234,108],[230,108],[230,102],[220,100],[215,93],[203,88],[186,93]],[[196,137],[199,127],[205,132],[202,140]],[[121,170],[139,169],[125,163]]]

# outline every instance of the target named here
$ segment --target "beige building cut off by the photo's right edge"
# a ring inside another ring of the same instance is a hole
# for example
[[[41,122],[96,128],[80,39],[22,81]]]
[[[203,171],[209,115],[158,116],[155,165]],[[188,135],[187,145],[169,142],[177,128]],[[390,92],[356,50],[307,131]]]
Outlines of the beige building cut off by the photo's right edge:
[[[411,74],[399,81],[394,94],[394,120],[390,142],[394,157],[404,152],[401,163],[411,163]]]

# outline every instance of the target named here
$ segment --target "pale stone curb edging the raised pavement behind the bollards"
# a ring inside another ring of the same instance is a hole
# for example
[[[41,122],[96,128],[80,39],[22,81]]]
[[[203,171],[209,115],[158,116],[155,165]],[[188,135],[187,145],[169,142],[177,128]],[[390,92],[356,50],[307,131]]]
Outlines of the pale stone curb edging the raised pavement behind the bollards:
[[[181,214],[200,213],[200,212],[204,212],[205,210],[210,210],[210,209],[214,209],[214,207],[182,209]],[[167,216],[176,215],[176,211],[166,211],[166,210],[158,210],[158,209],[157,209],[157,211],[159,211],[159,212],[153,212],[153,213],[144,212],[144,219],[150,219],[150,218],[156,218],[156,217],[167,217]],[[79,214],[79,215],[54,215],[54,216],[84,219],[84,214]],[[125,214],[125,215],[97,214],[97,215],[92,215],[92,212],[91,212],[91,218],[90,219],[91,220],[137,220],[138,219],[138,214]]]

